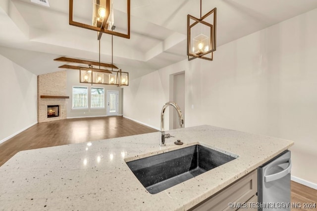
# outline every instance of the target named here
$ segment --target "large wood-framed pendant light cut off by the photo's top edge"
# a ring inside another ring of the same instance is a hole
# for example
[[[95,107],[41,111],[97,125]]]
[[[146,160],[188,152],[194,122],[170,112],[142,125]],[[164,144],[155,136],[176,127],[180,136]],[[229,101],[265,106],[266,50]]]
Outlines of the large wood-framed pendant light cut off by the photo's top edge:
[[[80,11],[75,10],[82,7],[80,2],[78,0],[69,0],[69,25],[97,31],[98,40],[101,39],[103,33],[130,39],[130,0],[126,0],[126,3],[124,4],[126,7],[126,15],[120,17],[120,22],[126,22],[126,33],[123,33],[125,30],[123,28],[119,30],[120,32],[111,30],[114,21],[113,0],[93,0],[92,6],[92,21],[86,23],[82,18],[78,18],[78,16],[81,15]]]

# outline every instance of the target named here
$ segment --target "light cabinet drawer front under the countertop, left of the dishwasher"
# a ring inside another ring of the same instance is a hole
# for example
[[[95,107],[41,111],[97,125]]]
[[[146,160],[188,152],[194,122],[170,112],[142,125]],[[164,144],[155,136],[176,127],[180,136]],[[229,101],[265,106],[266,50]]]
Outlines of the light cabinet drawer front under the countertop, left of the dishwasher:
[[[192,211],[226,211],[234,210],[229,203],[245,203],[251,200],[258,191],[257,170],[252,171],[238,181],[212,195],[210,198],[193,207]]]

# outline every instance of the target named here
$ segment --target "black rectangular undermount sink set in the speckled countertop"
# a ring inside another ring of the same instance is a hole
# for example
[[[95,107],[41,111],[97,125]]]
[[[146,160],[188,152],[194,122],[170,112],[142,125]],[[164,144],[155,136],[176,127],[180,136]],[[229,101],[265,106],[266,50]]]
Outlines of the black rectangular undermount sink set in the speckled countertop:
[[[156,194],[237,157],[194,145],[133,160],[127,165],[149,193]]]

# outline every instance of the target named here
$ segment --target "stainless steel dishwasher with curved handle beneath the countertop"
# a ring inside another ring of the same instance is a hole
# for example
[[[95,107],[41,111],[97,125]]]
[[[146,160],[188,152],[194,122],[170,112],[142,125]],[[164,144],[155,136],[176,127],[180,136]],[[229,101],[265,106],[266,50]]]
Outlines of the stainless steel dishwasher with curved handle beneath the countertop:
[[[258,210],[290,211],[291,152],[280,155],[258,168]]]

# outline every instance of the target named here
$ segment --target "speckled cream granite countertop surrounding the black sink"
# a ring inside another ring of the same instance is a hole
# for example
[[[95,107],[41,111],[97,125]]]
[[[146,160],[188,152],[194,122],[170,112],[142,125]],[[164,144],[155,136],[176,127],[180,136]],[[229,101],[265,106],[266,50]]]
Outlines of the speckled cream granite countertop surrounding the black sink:
[[[163,147],[155,132],[21,151],[0,167],[0,210],[188,210],[294,144],[208,125],[168,133]],[[239,157],[157,194],[126,165],[195,143]]]

